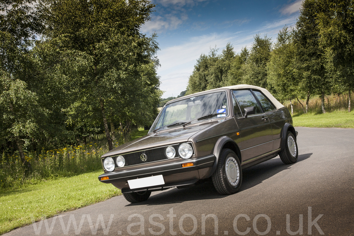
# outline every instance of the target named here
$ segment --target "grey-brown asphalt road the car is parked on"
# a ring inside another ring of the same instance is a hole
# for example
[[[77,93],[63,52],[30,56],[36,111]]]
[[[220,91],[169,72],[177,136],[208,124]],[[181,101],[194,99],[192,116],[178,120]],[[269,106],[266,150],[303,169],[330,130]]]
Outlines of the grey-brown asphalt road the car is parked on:
[[[354,235],[354,129],[296,130],[298,162],[244,170],[237,194],[204,182],[141,204],[118,196],[5,235]]]

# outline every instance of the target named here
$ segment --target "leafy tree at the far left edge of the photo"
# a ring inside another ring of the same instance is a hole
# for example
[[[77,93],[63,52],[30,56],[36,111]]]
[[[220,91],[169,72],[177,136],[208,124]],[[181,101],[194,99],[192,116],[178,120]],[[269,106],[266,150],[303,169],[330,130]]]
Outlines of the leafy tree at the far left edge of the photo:
[[[23,145],[39,131],[40,118],[45,117],[35,92],[25,82],[30,67],[29,50],[36,33],[41,30],[33,1],[0,3],[0,115],[1,141],[13,141],[27,172]]]

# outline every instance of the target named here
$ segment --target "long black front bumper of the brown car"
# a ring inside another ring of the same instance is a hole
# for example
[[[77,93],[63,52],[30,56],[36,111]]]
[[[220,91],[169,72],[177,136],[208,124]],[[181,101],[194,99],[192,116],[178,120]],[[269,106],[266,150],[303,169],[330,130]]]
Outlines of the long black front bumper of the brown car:
[[[215,159],[216,158],[214,155],[209,155],[201,158],[191,158],[187,160],[179,158],[168,163],[163,163],[163,164],[154,163],[155,165],[149,167],[140,166],[139,168],[136,167],[134,169],[116,170],[112,172],[107,172],[98,176],[98,179],[104,183],[111,183],[111,182],[116,182],[117,180],[124,181],[125,179],[126,180],[132,179],[135,176],[137,177],[139,176],[140,178],[142,178],[145,176],[158,175],[158,174],[170,175],[175,173],[189,172],[193,170],[199,170],[199,169],[211,167],[214,164]],[[193,166],[182,167],[182,164],[185,163],[193,163]],[[106,177],[106,176],[109,177],[109,179],[101,180],[102,177]]]

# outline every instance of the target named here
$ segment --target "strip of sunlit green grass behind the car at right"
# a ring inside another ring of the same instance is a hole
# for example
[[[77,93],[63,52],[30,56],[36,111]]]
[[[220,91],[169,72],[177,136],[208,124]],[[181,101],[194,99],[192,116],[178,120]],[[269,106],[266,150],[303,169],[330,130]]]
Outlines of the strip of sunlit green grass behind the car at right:
[[[295,114],[294,126],[319,128],[354,128],[354,112],[334,111],[325,114]]]

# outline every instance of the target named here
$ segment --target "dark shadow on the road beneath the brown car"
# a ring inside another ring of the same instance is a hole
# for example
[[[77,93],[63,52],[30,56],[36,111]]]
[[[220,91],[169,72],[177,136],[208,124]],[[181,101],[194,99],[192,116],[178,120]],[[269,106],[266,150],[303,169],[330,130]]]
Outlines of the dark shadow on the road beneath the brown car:
[[[306,160],[311,157],[311,155],[312,153],[299,155],[296,163]],[[277,157],[243,170],[243,180],[240,192],[258,185],[265,179],[268,179],[283,170],[291,168],[291,166],[296,163],[284,165],[280,158]],[[211,179],[207,179],[193,187],[182,189],[174,187],[171,190],[159,192],[158,194],[151,196],[145,202],[128,204],[126,206],[165,205],[196,200],[220,199],[228,196],[229,195],[218,194]]]

